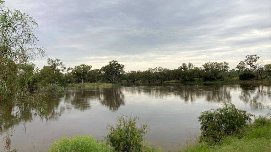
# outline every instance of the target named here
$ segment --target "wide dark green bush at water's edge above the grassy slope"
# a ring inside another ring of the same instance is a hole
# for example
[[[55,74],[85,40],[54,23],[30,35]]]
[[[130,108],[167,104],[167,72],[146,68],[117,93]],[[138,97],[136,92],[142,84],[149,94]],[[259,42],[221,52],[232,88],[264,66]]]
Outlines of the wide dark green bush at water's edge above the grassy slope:
[[[226,136],[241,135],[241,131],[251,121],[252,114],[236,109],[235,105],[223,103],[222,108],[202,112],[198,117],[201,124],[200,142],[214,144]]]

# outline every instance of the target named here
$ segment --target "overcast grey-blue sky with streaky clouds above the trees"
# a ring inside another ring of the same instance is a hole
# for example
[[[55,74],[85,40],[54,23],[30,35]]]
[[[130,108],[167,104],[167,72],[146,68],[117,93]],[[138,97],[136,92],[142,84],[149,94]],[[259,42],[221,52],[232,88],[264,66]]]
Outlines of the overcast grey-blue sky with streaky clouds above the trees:
[[[6,0],[39,25],[37,46],[66,67],[125,71],[210,62],[235,68],[246,55],[271,63],[270,0]]]

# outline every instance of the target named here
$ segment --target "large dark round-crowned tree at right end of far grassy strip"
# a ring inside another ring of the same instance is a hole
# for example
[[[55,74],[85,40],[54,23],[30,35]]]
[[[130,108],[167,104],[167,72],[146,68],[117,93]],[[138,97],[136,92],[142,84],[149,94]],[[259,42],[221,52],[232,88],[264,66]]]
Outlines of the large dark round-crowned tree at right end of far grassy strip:
[[[108,62],[108,65],[101,68],[102,74],[112,84],[118,83],[124,74],[125,66],[119,64],[118,61],[112,60]]]

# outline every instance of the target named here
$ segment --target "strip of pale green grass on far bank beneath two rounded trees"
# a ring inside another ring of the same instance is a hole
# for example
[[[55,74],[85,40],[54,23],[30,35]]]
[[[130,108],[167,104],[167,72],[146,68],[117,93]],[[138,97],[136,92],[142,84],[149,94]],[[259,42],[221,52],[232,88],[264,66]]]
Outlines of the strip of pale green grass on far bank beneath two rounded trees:
[[[81,83],[70,83],[68,84],[65,88],[66,89],[79,89],[79,88],[85,88],[85,89],[92,89],[92,88],[110,88],[113,85],[111,83],[102,83],[102,82],[97,82],[97,83],[84,83],[82,86]]]

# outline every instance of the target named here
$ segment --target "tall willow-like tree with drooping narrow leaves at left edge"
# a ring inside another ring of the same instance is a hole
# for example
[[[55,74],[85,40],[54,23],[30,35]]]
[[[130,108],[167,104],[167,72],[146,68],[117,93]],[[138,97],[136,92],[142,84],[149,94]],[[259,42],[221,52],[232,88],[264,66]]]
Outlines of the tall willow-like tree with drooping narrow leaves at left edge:
[[[10,10],[0,0],[0,130],[6,131],[5,149],[10,149],[14,124],[41,118],[46,113],[41,85],[34,81],[32,62],[45,56],[45,49],[37,47],[35,20],[19,10]]]

